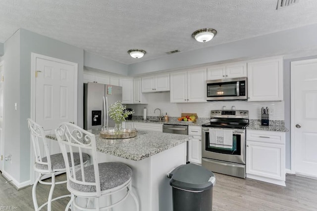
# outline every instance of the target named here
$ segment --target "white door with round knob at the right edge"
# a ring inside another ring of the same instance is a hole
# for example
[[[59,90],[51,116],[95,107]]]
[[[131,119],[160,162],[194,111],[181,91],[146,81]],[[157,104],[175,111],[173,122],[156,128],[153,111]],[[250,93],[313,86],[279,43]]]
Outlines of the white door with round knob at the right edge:
[[[292,172],[317,178],[317,59],[291,62]]]

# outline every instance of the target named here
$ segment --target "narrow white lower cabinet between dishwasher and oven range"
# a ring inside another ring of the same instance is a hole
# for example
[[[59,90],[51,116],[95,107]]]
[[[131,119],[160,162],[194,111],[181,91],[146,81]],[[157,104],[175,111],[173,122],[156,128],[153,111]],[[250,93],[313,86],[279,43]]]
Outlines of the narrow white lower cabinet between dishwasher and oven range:
[[[188,126],[188,135],[193,139],[188,141],[188,161],[195,164],[202,164],[202,127]]]

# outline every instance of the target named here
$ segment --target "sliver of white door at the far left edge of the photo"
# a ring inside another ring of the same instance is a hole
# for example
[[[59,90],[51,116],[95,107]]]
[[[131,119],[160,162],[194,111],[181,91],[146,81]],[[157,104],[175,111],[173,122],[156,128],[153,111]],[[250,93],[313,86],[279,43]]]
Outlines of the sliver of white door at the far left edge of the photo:
[[[4,160],[4,149],[3,149],[3,115],[4,115],[4,67],[3,61],[0,62],[0,171],[2,172],[3,160]]]

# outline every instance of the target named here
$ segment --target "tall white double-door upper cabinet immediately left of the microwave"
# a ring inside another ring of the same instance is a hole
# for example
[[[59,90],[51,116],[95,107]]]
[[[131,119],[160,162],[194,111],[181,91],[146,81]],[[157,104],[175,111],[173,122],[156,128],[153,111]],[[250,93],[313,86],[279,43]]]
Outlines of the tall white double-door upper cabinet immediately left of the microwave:
[[[206,68],[170,73],[170,102],[206,102]]]

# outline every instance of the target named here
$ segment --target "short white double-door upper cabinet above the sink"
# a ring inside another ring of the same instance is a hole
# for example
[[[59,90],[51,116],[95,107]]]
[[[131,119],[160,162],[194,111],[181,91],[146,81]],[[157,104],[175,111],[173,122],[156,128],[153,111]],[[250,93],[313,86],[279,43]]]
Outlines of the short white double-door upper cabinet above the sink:
[[[169,73],[142,77],[142,92],[169,91]]]

